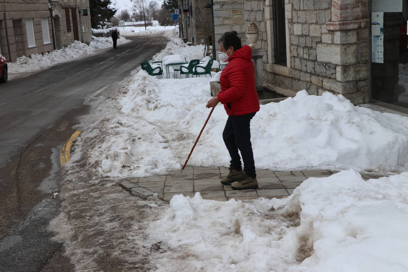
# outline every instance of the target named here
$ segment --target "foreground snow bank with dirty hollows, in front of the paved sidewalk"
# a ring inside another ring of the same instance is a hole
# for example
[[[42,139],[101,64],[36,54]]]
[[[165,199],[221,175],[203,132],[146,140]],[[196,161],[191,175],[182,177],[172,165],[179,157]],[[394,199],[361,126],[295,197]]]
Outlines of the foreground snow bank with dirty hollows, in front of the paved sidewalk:
[[[408,271],[408,172],[309,178],[286,199],[175,195],[146,233],[155,271]],[[235,270],[232,270],[235,269]]]

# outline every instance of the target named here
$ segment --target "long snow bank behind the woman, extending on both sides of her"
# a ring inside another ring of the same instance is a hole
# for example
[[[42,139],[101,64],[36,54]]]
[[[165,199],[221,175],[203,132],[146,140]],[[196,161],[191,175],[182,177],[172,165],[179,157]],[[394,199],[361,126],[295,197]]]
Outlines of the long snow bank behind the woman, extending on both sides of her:
[[[181,167],[209,113],[210,78],[159,80],[140,71],[122,111],[104,124],[109,140],[94,158],[104,175],[145,176]],[[218,105],[191,165],[228,166],[222,141],[227,119]],[[380,140],[381,139],[381,140]],[[251,122],[255,166],[274,170],[408,169],[408,118],[354,106],[342,95],[308,95],[262,105]]]

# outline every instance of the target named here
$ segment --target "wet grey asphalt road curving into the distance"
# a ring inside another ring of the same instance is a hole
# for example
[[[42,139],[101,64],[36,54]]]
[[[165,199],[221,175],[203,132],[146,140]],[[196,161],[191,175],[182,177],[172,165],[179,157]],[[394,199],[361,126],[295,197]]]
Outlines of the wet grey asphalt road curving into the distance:
[[[0,271],[71,270],[46,229],[58,214],[61,147],[89,110],[85,97],[111,90],[166,46],[162,37],[131,40],[0,84]]]

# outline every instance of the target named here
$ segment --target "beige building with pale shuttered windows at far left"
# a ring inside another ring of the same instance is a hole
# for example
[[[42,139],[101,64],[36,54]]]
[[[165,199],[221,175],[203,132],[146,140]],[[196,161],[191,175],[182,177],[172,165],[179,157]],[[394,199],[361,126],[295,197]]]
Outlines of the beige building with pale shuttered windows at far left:
[[[54,49],[48,0],[0,2],[0,49],[8,61]]]

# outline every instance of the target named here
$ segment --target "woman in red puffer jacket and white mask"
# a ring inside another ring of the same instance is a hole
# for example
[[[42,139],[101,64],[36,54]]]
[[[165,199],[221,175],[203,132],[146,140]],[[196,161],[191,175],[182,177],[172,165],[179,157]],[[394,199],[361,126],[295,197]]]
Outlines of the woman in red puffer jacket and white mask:
[[[259,111],[259,98],[255,88],[251,47],[241,46],[241,39],[237,34],[236,31],[225,32],[218,40],[219,59],[228,62],[228,65],[220,76],[221,91],[208,101],[207,107],[214,107],[218,102],[224,104],[228,119],[222,137],[231,156],[231,163],[230,172],[221,179],[221,183],[231,184],[231,188],[242,190],[258,188],[250,122]],[[244,172],[238,150],[244,161]]]

